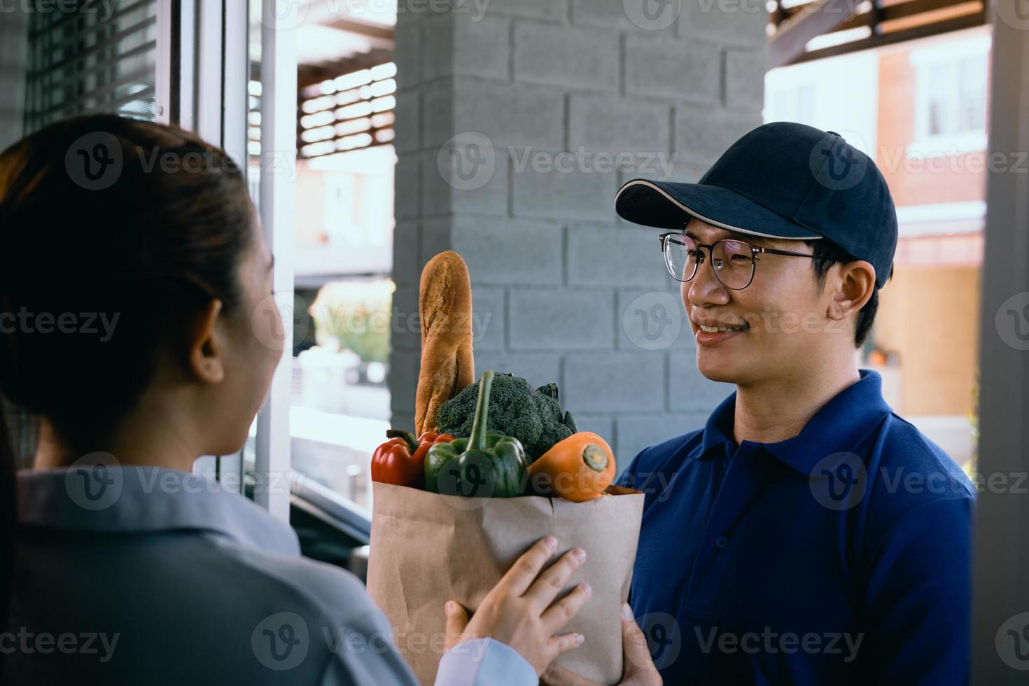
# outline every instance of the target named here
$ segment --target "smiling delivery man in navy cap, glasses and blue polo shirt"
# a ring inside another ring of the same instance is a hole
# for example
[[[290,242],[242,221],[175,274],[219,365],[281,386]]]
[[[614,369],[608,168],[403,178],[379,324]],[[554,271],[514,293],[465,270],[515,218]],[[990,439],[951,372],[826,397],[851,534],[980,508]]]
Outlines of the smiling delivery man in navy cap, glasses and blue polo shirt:
[[[631,605],[665,683],[965,683],[974,490],[856,364],[897,243],[875,163],[769,123],[615,209],[668,229],[697,366],[736,385],[619,479],[646,494]]]

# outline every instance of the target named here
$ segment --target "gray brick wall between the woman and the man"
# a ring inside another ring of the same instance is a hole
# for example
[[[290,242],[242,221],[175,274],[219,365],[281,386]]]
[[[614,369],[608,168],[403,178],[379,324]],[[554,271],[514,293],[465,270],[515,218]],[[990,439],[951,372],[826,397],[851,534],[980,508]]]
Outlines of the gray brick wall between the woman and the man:
[[[696,181],[760,123],[766,15],[646,2],[399,13],[394,425],[414,423],[419,275],[448,249],[471,274],[476,373],[557,382],[619,467],[732,392],[697,371],[660,231],[622,221],[612,201],[637,177]]]

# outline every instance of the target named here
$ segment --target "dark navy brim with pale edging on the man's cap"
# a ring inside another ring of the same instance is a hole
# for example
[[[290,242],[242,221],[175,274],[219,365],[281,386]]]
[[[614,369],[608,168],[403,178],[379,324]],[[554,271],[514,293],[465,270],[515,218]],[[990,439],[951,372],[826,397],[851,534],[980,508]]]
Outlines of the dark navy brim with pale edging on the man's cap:
[[[787,241],[822,238],[735,190],[702,183],[637,179],[622,186],[614,211],[644,226],[684,228],[690,217],[731,231]]]

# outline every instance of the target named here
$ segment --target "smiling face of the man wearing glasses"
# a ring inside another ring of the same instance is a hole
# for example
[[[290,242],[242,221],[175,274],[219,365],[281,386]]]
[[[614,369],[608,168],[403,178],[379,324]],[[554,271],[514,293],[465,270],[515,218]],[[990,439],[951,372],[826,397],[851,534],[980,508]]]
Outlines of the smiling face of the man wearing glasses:
[[[761,239],[693,219],[686,233],[698,243],[737,239],[758,248],[810,254],[800,241]],[[810,259],[786,255],[757,256],[753,281],[730,290],[715,278],[706,249],[696,276],[681,285],[682,302],[697,341],[697,366],[713,381],[749,385],[803,371],[825,346],[838,345],[845,322],[827,317],[829,289],[819,288]],[[739,327],[711,333],[705,327]]]

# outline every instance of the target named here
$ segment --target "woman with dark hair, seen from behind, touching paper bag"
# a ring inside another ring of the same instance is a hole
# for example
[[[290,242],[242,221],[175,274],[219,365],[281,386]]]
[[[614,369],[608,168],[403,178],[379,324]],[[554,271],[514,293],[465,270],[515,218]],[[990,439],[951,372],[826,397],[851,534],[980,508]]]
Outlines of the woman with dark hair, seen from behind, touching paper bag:
[[[0,392],[39,421],[15,476],[0,418],[4,683],[414,683],[356,579],[190,473],[242,447],[281,355],[233,160],[154,123],[52,124],[0,154]],[[584,552],[544,569],[557,545],[470,621],[448,603],[437,684],[535,684],[581,642],[558,631],[589,587],[557,594]],[[625,636],[632,678],[649,655]]]

